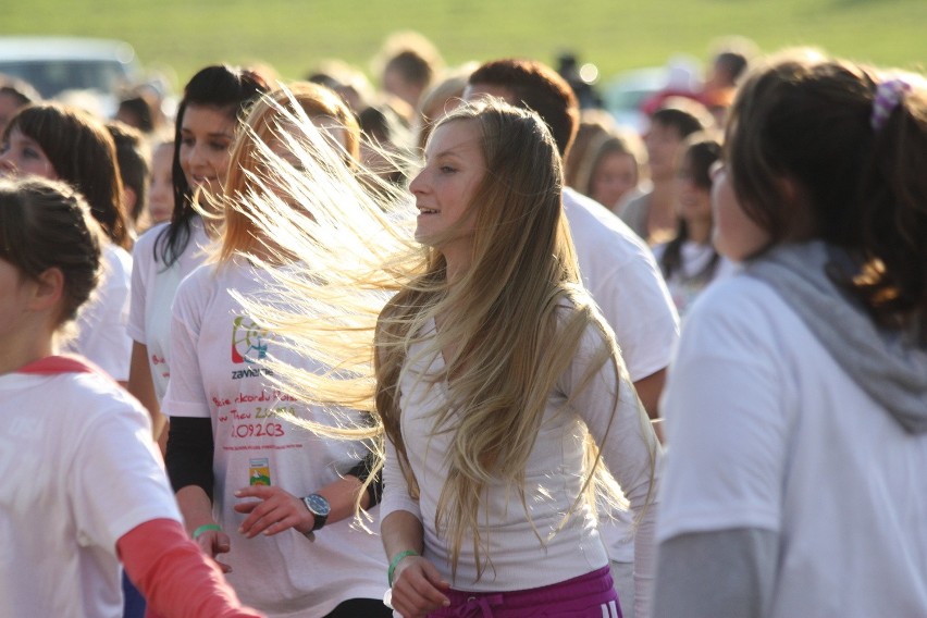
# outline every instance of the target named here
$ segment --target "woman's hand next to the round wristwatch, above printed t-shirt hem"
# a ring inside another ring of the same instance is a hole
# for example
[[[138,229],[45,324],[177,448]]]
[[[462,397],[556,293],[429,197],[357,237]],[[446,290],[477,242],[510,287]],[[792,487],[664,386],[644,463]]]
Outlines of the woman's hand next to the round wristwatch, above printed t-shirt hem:
[[[252,485],[235,492],[235,497],[258,498],[258,502],[235,505],[236,511],[248,514],[238,528],[238,532],[247,539],[261,532],[271,536],[291,528],[306,533],[312,530],[316,523],[316,518],[306,508],[302,499],[280,487]]]

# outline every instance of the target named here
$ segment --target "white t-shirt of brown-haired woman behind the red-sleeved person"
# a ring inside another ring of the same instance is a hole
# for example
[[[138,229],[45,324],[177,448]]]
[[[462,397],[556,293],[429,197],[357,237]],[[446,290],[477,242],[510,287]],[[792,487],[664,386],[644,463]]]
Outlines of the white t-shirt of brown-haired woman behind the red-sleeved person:
[[[132,338],[128,324],[132,256],[116,245],[103,245],[103,274],[94,296],[77,312],[77,336],[63,347],[109,373],[128,380]]]

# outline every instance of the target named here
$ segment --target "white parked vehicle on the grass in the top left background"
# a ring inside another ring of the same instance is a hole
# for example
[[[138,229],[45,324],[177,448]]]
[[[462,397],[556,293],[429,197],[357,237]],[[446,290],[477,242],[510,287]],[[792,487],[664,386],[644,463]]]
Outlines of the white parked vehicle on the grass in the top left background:
[[[141,78],[127,42],[70,37],[0,37],[0,73],[25,79],[47,99],[91,91],[106,113],[114,110],[121,89]]]

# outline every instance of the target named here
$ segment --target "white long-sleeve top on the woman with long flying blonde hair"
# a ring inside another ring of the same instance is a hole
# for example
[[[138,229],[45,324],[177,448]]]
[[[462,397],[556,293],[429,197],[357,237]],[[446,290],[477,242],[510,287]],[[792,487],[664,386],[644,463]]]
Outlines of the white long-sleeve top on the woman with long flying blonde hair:
[[[431,325],[433,329],[433,324]],[[390,512],[405,510],[415,515],[424,529],[424,556],[456,590],[498,592],[527,590],[569,580],[608,564],[608,555],[597,531],[596,518],[581,503],[558,531],[582,489],[583,440],[589,431],[601,445],[608,469],[625,490],[631,510],[643,516],[636,532],[635,568],[638,616],[646,616],[651,606],[651,579],[654,560],[655,504],[651,485],[658,469],[659,447],[640,406],[633,386],[623,375],[617,411],[611,420],[614,369],[604,366],[564,409],[573,390],[582,382],[601,335],[591,326],[579,351],[551,392],[548,405],[524,473],[524,498],[502,481],[486,489],[486,500],[479,518],[490,547],[490,563],[481,579],[472,535],[466,534],[460,546],[456,579],[452,579],[450,542],[446,530],[435,530],[435,511],[445,479],[453,434],[434,434],[431,415],[447,397],[447,385],[419,374],[440,374],[444,361],[440,353],[418,358],[421,347],[409,350],[408,362],[417,362],[400,380],[400,430],[420,490],[415,500],[396,461],[393,444],[387,444],[384,471],[383,519]],[[425,344],[418,344],[419,346]],[[623,373],[623,372],[622,372]],[[588,428],[588,430],[586,430]],[[606,435],[607,432],[607,435]],[[387,441],[388,443],[388,441]]]

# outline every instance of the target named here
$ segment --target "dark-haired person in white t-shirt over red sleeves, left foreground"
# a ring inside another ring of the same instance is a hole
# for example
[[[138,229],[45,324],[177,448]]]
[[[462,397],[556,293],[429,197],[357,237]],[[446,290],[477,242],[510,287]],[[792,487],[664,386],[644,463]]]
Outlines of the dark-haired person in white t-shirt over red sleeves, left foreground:
[[[72,187],[0,181],[0,615],[116,618],[123,564],[165,618],[259,616],[186,536],[138,403],[58,354],[106,243]]]

